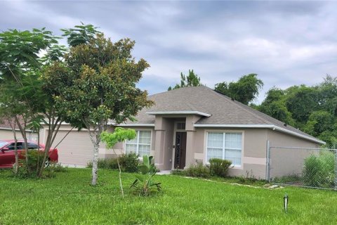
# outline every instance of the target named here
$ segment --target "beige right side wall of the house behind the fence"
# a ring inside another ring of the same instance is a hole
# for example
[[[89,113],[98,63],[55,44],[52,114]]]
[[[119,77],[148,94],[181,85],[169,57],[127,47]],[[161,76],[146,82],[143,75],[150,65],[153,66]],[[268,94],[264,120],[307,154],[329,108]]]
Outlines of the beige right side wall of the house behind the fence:
[[[319,148],[317,143],[298,139],[279,131],[268,130],[267,138],[272,147]],[[270,148],[270,177],[300,175],[303,171],[304,159],[317,153],[317,150]]]

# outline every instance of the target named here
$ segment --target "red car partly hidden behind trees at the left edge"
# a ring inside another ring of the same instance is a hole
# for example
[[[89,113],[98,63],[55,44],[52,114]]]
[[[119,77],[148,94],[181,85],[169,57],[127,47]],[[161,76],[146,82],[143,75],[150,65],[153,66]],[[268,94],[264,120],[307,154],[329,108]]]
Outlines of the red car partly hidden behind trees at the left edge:
[[[0,141],[0,168],[12,168],[15,163],[15,150],[13,140]],[[34,141],[27,142],[28,149],[37,149],[38,145]],[[25,153],[25,141],[18,141],[16,144],[18,149],[19,158],[25,158],[22,153]],[[44,150],[44,145],[40,143],[41,151]],[[46,161],[46,167],[50,162],[58,162],[58,150],[51,149],[48,153],[48,159]]]

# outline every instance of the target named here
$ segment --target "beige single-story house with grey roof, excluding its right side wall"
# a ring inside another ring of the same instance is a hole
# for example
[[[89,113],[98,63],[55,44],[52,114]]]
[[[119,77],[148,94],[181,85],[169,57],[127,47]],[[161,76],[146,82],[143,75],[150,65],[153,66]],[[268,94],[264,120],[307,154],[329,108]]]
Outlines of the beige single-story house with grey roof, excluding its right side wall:
[[[114,148],[118,153],[153,155],[161,170],[222,158],[232,161],[232,176],[249,173],[265,179],[267,141],[273,146],[304,148],[324,143],[206,86],[174,89],[149,98],[155,104],[140,110],[136,122],[111,125],[110,129],[136,129],[136,139]],[[62,125],[56,142],[70,129]],[[70,165],[86,165],[93,155],[86,131],[71,131],[58,149],[60,162]],[[108,157],[112,151],[101,148],[100,158]]]

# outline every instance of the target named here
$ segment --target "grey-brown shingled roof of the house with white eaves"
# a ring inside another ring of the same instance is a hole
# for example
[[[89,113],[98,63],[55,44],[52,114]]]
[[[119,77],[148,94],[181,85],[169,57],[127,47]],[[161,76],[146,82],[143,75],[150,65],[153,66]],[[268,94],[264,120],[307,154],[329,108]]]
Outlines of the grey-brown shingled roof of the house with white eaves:
[[[284,126],[284,122],[260,113],[258,110],[234,101],[206,86],[190,86],[149,96],[155,102],[151,108],[143,108],[137,122],[127,124],[154,124],[154,114],[174,112],[206,115],[194,127],[261,127],[286,131],[318,143],[324,143],[303,131]],[[150,115],[150,114],[152,115]]]

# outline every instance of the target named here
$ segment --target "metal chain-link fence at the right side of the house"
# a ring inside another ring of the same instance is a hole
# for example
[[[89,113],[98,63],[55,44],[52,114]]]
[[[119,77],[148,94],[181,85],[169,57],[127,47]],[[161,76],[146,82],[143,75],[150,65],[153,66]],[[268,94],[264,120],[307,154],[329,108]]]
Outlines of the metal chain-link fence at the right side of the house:
[[[268,146],[267,180],[337,191],[337,150]]]

